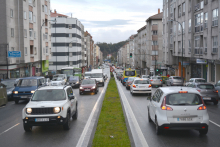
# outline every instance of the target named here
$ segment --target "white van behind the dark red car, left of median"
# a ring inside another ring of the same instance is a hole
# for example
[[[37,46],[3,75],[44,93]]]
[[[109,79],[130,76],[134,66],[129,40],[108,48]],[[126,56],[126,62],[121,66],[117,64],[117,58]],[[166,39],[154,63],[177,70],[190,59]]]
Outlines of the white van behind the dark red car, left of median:
[[[95,79],[98,82],[98,85],[105,86],[103,70],[102,69],[93,69],[91,71],[91,76],[90,77],[91,77],[91,79]]]

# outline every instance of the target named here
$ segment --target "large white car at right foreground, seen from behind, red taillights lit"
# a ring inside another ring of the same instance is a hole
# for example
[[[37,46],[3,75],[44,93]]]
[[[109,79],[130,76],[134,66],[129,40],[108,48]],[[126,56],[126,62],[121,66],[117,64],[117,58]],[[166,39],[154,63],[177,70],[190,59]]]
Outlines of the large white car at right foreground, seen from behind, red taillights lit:
[[[207,134],[209,115],[200,93],[189,87],[158,88],[148,105],[149,122],[162,130],[199,130]]]

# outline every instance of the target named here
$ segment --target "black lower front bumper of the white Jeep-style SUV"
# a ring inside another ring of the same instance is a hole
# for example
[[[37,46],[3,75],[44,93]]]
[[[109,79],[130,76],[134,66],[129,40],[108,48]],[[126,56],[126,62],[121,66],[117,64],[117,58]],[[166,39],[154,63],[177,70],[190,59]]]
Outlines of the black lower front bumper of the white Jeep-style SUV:
[[[36,118],[49,118],[49,121],[47,122],[36,122]],[[54,116],[54,117],[28,117],[28,119],[23,119],[23,123],[30,126],[48,126],[48,125],[63,125],[66,123],[66,118],[63,118],[60,116]]]

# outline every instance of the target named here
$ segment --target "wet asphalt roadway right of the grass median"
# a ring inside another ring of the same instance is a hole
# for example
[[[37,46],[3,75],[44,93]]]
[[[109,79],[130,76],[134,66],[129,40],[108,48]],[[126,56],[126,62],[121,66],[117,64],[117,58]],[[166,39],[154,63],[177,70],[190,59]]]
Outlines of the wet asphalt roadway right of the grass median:
[[[132,96],[130,91],[126,90],[125,86],[121,83],[119,86],[123,89],[123,91],[120,92],[124,92],[149,147],[220,146],[220,104],[215,106],[213,103],[207,103],[207,110],[210,121],[212,122],[209,123],[209,132],[206,136],[200,136],[199,132],[196,130],[166,131],[162,135],[157,136],[154,123],[148,122],[147,105],[149,100],[147,100],[147,96]],[[155,91],[156,88],[153,88],[153,93]]]

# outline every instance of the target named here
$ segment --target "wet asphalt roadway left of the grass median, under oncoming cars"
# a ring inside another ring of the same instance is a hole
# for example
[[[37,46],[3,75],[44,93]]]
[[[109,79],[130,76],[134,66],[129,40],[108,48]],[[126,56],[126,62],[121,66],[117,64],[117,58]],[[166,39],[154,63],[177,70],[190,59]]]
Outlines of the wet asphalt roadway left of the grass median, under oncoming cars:
[[[109,73],[109,69],[104,72]],[[97,95],[79,95],[78,89],[74,89],[78,99],[78,119],[71,121],[69,131],[63,130],[62,126],[36,126],[32,132],[25,132],[21,111],[27,102],[8,102],[5,107],[0,107],[0,147],[76,146],[102,90],[103,87],[100,87]]]

